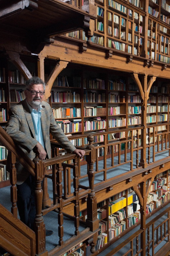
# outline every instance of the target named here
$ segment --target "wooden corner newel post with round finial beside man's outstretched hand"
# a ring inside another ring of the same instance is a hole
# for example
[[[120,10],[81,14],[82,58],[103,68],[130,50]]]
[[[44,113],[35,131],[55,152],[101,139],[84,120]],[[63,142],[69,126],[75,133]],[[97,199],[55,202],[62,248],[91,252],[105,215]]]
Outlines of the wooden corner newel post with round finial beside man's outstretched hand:
[[[89,145],[86,149],[91,149],[91,153],[86,156],[86,161],[88,164],[88,180],[89,180],[89,187],[91,192],[88,194],[87,197],[87,219],[86,225],[90,228],[91,231],[95,231],[99,228],[99,220],[97,218],[97,199],[94,192],[94,176],[95,172],[93,169],[93,165],[96,161],[96,149],[92,142],[94,141],[94,137],[92,135],[87,136],[87,140]],[[91,252],[95,252],[94,245],[97,241],[97,233],[93,237],[93,243],[91,244]]]

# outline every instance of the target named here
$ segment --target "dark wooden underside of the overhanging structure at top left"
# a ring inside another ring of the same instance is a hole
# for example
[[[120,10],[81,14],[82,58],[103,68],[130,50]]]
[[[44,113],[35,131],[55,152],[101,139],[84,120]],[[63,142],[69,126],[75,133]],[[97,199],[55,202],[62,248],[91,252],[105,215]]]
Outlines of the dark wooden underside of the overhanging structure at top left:
[[[4,40],[39,53],[52,36],[89,28],[94,15],[60,0],[0,0],[0,45]]]

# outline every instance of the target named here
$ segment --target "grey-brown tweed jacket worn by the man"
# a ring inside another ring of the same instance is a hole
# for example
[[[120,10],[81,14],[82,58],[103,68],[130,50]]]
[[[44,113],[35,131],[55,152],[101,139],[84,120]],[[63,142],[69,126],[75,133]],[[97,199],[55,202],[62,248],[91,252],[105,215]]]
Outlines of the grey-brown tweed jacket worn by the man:
[[[60,125],[56,124],[50,105],[42,101],[41,102],[41,127],[43,133],[43,139],[47,151],[47,157],[51,157],[51,146],[49,133],[60,143],[60,145],[68,152],[73,152],[76,148],[68,140],[67,136],[63,133]],[[38,141],[35,137],[35,131],[30,110],[27,106],[26,100],[20,101],[17,105],[13,106],[9,110],[9,120],[6,124],[5,131],[11,136],[14,142],[26,153],[31,160],[35,157],[33,148]],[[7,158],[7,170],[10,168],[9,157]],[[17,162],[17,184],[22,184],[27,177],[27,172],[24,167]]]

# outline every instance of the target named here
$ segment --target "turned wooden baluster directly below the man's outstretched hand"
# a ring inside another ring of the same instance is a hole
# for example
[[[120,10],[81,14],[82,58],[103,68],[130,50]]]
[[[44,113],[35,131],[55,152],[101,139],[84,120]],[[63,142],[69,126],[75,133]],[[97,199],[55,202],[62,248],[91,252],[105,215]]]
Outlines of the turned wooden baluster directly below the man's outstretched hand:
[[[76,157],[75,159],[73,159],[73,163],[74,163],[74,168],[73,168],[73,187],[74,187],[74,196],[76,197],[76,199],[74,200],[74,226],[76,228],[75,230],[75,235],[79,234],[79,192],[78,192],[78,166],[77,166],[77,161],[78,158]]]

